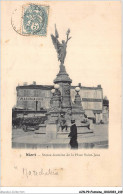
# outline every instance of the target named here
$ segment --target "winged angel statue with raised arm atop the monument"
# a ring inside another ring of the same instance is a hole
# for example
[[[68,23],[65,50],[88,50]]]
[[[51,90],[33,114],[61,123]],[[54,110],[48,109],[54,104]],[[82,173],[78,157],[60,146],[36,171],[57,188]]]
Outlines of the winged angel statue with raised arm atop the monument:
[[[69,37],[69,34],[70,34],[70,29],[68,29],[68,31],[66,32],[66,35],[67,35],[66,41],[62,40],[62,43],[60,43],[58,40],[59,34],[58,34],[57,29],[56,29],[56,25],[55,25],[55,36],[53,34],[51,34],[52,42],[53,42],[54,47],[57,51],[58,61],[60,61],[61,65],[64,64],[64,60],[66,57],[67,43],[68,43],[68,40],[71,39],[71,37]]]

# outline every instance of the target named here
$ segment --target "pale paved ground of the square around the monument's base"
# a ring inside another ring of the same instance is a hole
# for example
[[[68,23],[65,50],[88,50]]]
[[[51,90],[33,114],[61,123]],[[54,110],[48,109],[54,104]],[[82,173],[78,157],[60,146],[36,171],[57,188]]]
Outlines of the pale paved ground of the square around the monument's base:
[[[79,148],[108,148],[108,124],[94,124],[93,133],[79,134]],[[46,134],[35,134],[35,131],[24,132],[23,129],[12,130],[13,148],[68,148],[70,139],[57,138],[47,140]]]

